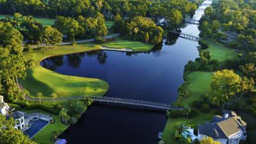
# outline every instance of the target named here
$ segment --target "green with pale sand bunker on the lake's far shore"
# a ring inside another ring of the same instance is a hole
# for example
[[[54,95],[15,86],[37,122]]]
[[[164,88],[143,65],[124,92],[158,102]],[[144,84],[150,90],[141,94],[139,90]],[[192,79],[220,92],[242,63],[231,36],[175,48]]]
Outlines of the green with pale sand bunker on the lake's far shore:
[[[116,41],[102,44],[102,46],[116,49],[133,49],[132,51],[149,51],[154,47],[154,45],[145,42],[123,40],[118,36],[116,36],[115,39]]]

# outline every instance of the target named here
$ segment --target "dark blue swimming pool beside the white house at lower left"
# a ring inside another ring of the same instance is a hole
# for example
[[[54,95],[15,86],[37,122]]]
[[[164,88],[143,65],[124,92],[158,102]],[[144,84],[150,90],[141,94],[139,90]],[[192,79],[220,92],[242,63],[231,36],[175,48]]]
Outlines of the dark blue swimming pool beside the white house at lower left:
[[[24,131],[23,133],[29,136],[29,138],[32,138],[38,131],[45,127],[45,125],[49,124],[49,122],[47,122],[46,120],[39,119],[35,122],[31,121],[29,122],[29,124],[31,124],[31,127]]]

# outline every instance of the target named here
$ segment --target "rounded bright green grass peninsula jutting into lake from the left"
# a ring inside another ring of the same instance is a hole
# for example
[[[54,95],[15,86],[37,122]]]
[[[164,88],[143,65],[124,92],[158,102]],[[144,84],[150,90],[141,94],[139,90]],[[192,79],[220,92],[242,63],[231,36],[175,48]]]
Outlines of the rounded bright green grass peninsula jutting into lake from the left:
[[[43,94],[42,99],[52,99],[51,93],[64,97],[102,96],[108,92],[109,84],[100,79],[65,76],[46,68],[36,66],[26,70],[27,76],[20,84],[28,90],[30,97],[37,98],[36,93]]]

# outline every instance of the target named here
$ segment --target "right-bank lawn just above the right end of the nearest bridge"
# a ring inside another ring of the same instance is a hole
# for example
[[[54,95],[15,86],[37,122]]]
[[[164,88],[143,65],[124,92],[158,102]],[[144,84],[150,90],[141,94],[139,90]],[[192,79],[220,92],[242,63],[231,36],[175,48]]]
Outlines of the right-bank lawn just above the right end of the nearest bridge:
[[[189,96],[181,103],[184,105],[192,103],[194,100],[199,100],[201,94],[209,92],[211,74],[212,72],[191,72],[188,75],[189,82],[191,82],[188,84]]]

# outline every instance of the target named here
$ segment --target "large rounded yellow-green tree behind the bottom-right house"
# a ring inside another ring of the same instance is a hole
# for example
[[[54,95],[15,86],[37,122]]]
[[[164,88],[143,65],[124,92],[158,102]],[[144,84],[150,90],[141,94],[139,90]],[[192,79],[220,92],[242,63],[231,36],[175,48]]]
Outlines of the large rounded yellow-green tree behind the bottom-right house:
[[[222,110],[226,102],[237,93],[241,92],[241,77],[233,72],[233,70],[221,70],[215,72],[211,76],[211,101],[212,104],[223,104]]]

